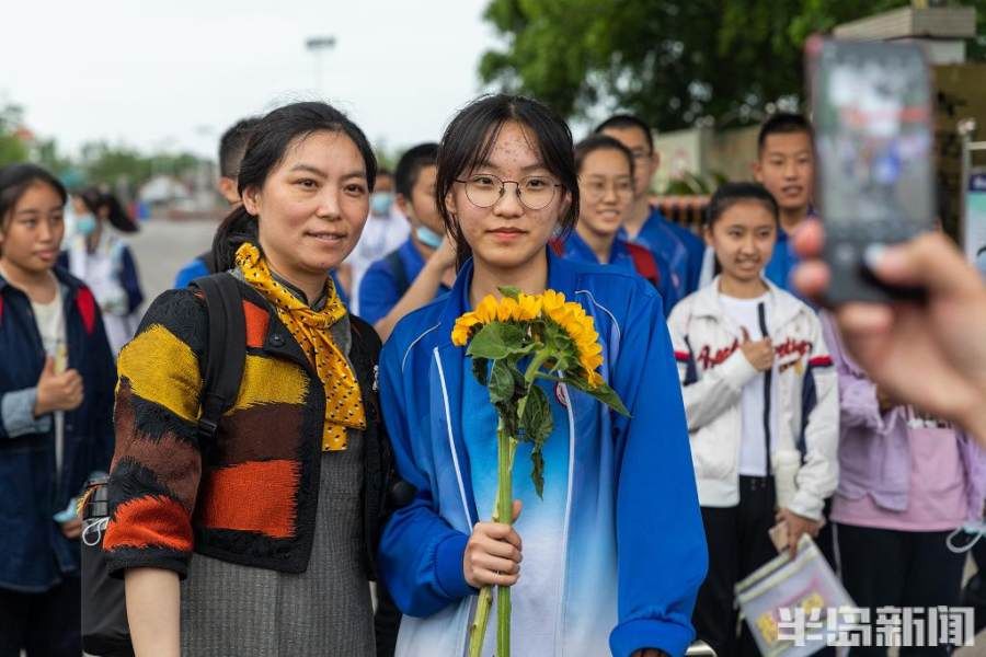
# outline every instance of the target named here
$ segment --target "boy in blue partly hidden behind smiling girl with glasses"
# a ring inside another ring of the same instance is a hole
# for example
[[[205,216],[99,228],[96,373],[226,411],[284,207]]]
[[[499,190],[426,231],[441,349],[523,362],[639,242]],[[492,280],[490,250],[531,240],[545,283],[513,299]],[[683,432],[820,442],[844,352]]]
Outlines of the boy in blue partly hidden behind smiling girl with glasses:
[[[651,180],[661,165],[650,126],[637,116],[617,114],[599,124],[595,131],[612,137],[633,153],[633,205],[620,234],[650,249],[655,258],[666,263],[670,292],[664,303],[670,312],[675,303],[698,287],[706,245],[698,235],[669,221],[650,204]]]

